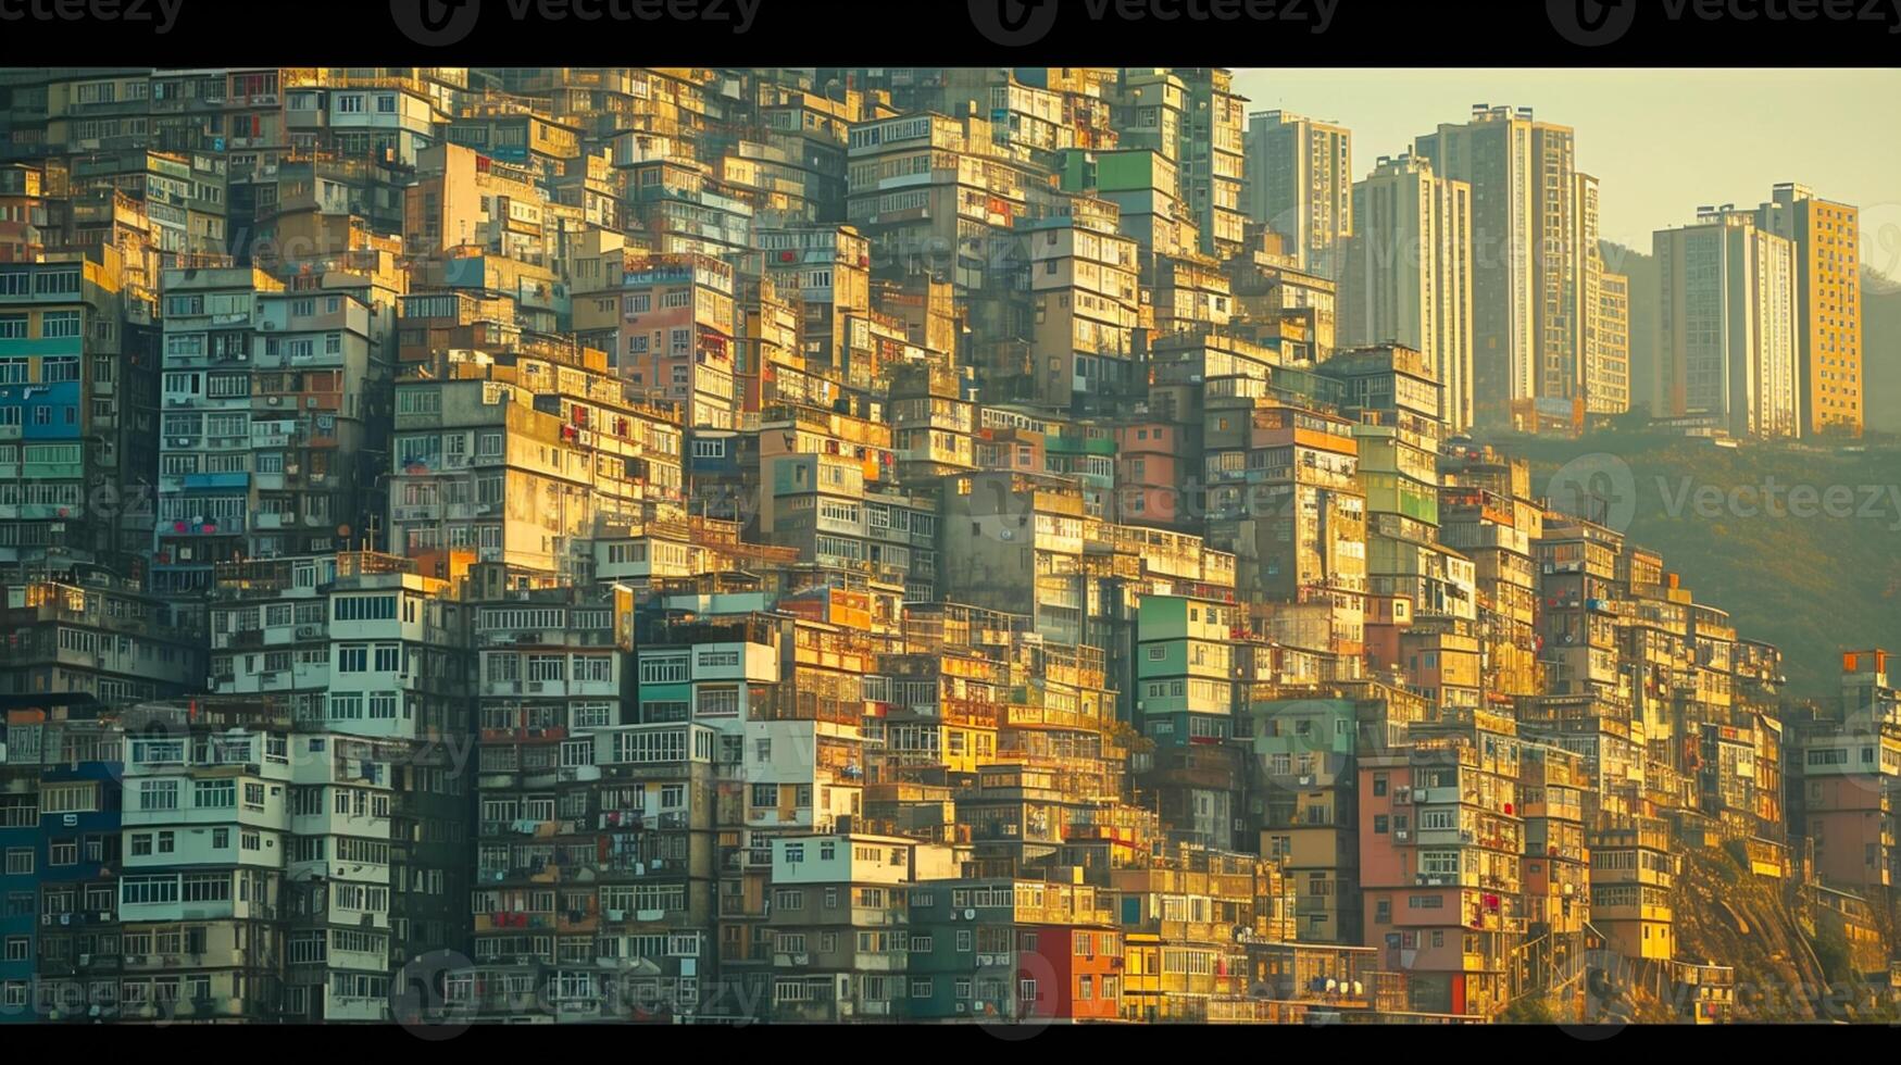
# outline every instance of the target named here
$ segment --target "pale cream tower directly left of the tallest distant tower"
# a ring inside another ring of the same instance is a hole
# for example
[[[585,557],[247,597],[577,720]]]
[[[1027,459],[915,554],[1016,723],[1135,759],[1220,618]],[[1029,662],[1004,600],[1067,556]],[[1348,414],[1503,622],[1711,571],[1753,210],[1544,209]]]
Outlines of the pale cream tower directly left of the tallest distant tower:
[[[1471,428],[1471,186],[1416,156],[1380,158],[1354,184],[1340,342],[1397,342],[1431,359],[1447,432]]]

